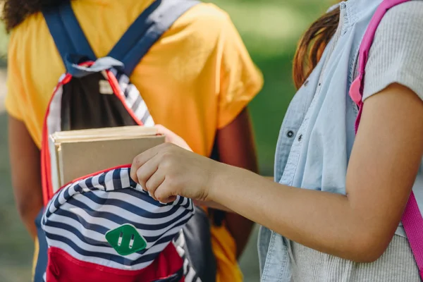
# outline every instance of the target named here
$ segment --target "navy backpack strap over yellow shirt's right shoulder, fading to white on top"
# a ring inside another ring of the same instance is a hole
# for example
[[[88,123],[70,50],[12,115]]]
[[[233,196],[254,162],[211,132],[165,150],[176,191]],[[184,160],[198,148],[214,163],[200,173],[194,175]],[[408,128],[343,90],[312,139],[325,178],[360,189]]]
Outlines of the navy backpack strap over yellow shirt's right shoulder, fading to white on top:
[[[111,49],[109,56],[121,61],[123,72],[130,75],[161,35],[197,0],[156,0],[128,28]]]

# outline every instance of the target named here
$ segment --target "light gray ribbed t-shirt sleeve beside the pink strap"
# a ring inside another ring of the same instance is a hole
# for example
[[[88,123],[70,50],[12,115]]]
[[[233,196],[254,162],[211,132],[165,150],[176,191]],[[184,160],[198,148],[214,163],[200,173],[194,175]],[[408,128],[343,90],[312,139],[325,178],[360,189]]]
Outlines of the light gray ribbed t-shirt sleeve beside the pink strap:
[[[423,1],[400,4],[385,14],[365,72],[363,100],[395,82],[423,99]]]

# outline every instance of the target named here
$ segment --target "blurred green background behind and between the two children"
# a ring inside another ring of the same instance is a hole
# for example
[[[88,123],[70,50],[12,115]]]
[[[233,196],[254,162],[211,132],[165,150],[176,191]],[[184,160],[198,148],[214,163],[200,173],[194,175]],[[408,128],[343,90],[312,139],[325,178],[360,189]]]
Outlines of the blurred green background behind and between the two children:
[[[302,32],[333,0],[215,0],[238,27],[253,61],[264,74],[264,88],[251,103],[261,173],[273,175],[278,130],[295,93],[291,63]],[[3,30],[3,28],[1,28]],[[30,281],[32,241],[18,218],[8,166],[6,92],[8,37],[0,34],[0,282]],[[259,281],[257,228],[240,265],[245,281]],[[230,282],[230,281],[228,281]]]

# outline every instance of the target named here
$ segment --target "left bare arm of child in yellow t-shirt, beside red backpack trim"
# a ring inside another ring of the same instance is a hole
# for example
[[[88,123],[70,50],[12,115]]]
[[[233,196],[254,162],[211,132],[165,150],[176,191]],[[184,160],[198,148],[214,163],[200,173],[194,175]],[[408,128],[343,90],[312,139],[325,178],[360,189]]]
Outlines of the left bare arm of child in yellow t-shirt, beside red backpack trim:
[[[12,116],[8,117],[8,146],[16,206],[27,230],[35,238],[35,218],[42,209],[39,149],[25,123]]]

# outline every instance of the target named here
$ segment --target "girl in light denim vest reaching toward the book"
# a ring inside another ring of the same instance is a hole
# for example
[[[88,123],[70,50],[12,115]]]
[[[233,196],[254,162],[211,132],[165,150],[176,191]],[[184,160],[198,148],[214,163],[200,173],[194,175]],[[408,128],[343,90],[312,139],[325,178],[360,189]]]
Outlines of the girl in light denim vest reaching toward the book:
[[[264,226],[262,281],[419,281],[400,221],[412,191],[423,210],[423,1],[394,6],[377,27],[357,135],[348,94],[381,3],[342,2],[302,37],[276,183],[174,145],[137,156],[132,177],[161,202],[183,195]]]

